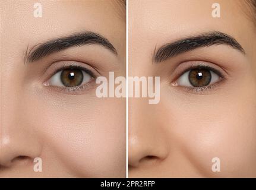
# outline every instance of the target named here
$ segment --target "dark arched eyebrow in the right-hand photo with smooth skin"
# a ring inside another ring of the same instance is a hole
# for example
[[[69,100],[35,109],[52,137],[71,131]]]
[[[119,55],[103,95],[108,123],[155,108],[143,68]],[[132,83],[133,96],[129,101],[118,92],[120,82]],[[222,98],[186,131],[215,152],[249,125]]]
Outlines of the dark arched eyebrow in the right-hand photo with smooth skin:
[[[162,62],[181,53],[185,53],[199,47],[208,47],[213,45],[228,45],[245,53],[241,45],[231,36],[220,31],[211,31],[198,36],[191,36],[177,40],[173,43],[167,43],[158,50],[154,50],[154,62]]]

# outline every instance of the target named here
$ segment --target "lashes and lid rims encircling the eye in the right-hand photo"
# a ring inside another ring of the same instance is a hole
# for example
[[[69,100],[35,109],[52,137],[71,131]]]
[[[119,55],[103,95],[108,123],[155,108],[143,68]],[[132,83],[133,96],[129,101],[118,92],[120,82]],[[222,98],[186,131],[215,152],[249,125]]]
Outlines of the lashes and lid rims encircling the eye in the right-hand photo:
[[[222,74],[222,72],[220,72],[219,70],[208,66],[208,65],[191,65],[189,66],[187,69],[185,69],[184,71],[181,72],[181,74],[178,75],[178,77],[175,78],[175,81],[172,83],[172,85],[174,85],[176,83],[176,80],[178,80],[179,77],[181,77],[183,74],[185,74],[185,72],[190,71],[191,69],[195,69],[195,68],[201,68],[201,69],[208,69],[209,71],[214,72],[215,74],[219,75],[220,80],[217,81],[214,84],[210,84],[204,87],[184,87],[184,86],[178,86],[181,88],[184,88],[186,91],[191,92],[191,93],[202,93],[204,91],[210,91],[210,90],[214,90],[220,83],[222,83],[224,80],[226,80],[225,75]]]

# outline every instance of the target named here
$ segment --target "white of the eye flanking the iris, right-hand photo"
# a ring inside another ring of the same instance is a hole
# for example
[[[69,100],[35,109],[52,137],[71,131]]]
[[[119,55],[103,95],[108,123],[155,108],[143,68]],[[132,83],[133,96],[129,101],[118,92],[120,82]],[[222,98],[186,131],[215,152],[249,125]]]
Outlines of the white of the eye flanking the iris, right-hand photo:
[[[185,72],[184,74],[182,74],[181,77],[179,77],[178,80],[176,80],[177,85],[181,85],[181,86],[184,86],[184,87],[194,87],[189,82],[189,78],[188,78],[189,72],[190,72],[190,70]],[[216,83],[217,81],[220,80],[219,75],[217,75],[215,72],[210,71],[210,74],[211,74],[211,81],[208,85]]]

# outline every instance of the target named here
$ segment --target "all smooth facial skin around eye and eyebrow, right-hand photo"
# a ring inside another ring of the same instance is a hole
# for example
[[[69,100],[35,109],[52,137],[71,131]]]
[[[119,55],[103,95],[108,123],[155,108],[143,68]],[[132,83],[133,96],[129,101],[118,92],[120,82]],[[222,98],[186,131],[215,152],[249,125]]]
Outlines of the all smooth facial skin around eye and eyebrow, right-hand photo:
[[[160,76],[158,105],[129,99],[129,178],[256,177],[255,25],[241,1],[218,1],[221,17],[211,17],[214,2],[129,1],[129,75]],[[219,45],[152,63],[154,47],[212,30],[246,54]],[[226,80],[201,94],[170,85],[185,61],[219,65]]]

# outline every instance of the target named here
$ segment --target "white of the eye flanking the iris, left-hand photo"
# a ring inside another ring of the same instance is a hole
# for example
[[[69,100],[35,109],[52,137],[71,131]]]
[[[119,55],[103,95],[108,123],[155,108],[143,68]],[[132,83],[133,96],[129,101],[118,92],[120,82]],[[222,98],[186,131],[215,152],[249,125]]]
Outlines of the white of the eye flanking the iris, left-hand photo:
[[[49,79],[49,85],[54,85],[54,86],[59,86],[59,87],[66,87],[62,81],[61,81],[61,71],[58,71],[56,74],[54,74],[50,79]],[[83,81],[80,85],[83,85],[83,84],[86,84],[86,83],[89,83],[90,80],[91,80],[91,75],[88,74],[87,72],[81,70],[82,74],[83,74]],[[71,75],[72,75],[72,72],[71,72]]]

